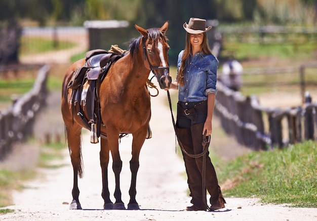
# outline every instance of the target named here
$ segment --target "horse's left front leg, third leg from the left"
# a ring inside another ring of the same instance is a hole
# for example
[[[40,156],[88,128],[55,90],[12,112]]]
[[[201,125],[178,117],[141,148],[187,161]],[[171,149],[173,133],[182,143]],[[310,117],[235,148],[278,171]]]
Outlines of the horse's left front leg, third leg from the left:
[[[109,131],[109,128],[108,128]],[[118,133],[117,133],[118,134]],[[122,160],[119,153],[119,142],[118,142],[118,135],[110,135],[108,132],[108,144],[111,150],[112,156],[112,170],[114,172],[114,179],[115,179],[115,189],[114,189],[114,198],[115,203],[113,205],[113,209],[126,209],[125,204],[121,199],[121,190],[120,190],[120,173],[122,170]]]

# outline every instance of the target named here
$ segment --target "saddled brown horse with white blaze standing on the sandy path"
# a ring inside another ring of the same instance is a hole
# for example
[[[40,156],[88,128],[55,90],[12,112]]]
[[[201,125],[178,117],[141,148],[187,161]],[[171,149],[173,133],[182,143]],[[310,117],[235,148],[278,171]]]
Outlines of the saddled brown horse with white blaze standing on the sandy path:
[[[129,190],[130,202],[128,209],[139,209],[135,199],[136,178],[139,168],[139,154],[148,131],[151,117],[150,96],[146,81],[152,70],[161,89],[169,88],[172,78],[169,75],[168,50],[169,45],[165,36],[168,22],[161,28],[143,29],[135,25],[141,33],[137,39],[130,42],[129,51],[122,58],[113,63],[102,81],[98,96],[100,100],[101,119],[101,149],[100,165],[102,171],[102,198],[104,209],[126,209],[121,199],[120,172],[122,160],[119,153],[118,138],[120,134],[132,134],[132,158],[130,161],[131,186]],[[72,91],[68,88],[70,79],[76,68],[85,64],[85,59],[73,63],[66,71],[63,80],[61,110],[65,122],[65,133],[73,166],[73,200],[70,209],[82,209],[78,200],[78,176],[83,176],[81,131],[85,127],[81,117],[73,113],[70,102]],[[87,115],[86,110],[84,114]],[[86,127],[87,128],[87,127]],[[113,204],[108,189],[109,151],[115,176],[115,190]]]

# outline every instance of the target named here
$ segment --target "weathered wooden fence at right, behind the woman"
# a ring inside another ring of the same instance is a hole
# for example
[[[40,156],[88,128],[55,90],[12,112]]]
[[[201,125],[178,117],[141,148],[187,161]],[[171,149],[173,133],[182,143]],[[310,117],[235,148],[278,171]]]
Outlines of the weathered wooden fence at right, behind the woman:
[[[316,140],[317,103],[284,110],[267,108],[261,106],[255,96],[245,97],[219,81],[217,89],[215,115],[220,118],[225,132],[239,143],[254,150],[267,150]]]

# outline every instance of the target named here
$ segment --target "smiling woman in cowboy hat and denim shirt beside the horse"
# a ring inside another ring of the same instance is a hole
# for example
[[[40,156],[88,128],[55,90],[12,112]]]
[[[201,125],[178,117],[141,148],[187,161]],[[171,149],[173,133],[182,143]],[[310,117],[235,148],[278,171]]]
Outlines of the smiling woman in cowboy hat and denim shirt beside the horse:
[[[178,89],[179,92],[176,121],[178,141],[188,154],[197,155],[203,152],[204,136],[212,133],[218,60],[208,46],[206,31],[212,27],[206,28],[205,19],[190,18],[183,27],[187,32],[186,46],[178,55],[176,81],[172,83],[171,89]],[[202,172],[203,157],[192,158],[182,153],[192,197],[190,202],[193,204],[186,210],[207,210],[206,191],[203,191],[202,186],[204,175],[206,189],[211,195],[209,209],[224,208],[225,200],[209,152],[206,153],[206,174]]]

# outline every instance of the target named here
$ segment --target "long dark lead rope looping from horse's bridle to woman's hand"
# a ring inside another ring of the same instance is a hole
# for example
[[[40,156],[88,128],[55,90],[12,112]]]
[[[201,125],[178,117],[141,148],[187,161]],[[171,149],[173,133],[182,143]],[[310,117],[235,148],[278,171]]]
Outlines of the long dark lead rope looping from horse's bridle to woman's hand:
[[[173,115],[173,109],[172,109],[172,102],[171,102],[171,95],[170,95],[170,91],[167,91],[167,97],[169,100],[169,105],[170,105],[170,110],[171,110],[171,116],[172,116],[172,122],[173,122],[173,127],[174,127],[174,131],[175,131],[175,136],[177,138],[178,144],[180,146],[180,149],[182,150],[183,153],[185,153],[187,156],[191,157],[191,158],[199,158],[199,157],[203,157],[203,168],[202,168],[202,187],[203,187],[203,203],[205,205],[207,205],[207,210],[210,211],[210,207],[207,204],[207,199],[206,199],[206,153],[208,151],[207,144],[210,141],[210,136],[205,136],[203,137],[203,152],[201,154],[189,154],[183,147],[182,143],[178,140],[177,137],[177,133],[176,133],[176,124],[175,124],[175,120],[174,120],[174,115]],[[208,138],[207,138],[208,137]],[[175,146],[176,149],[176,146]]]

